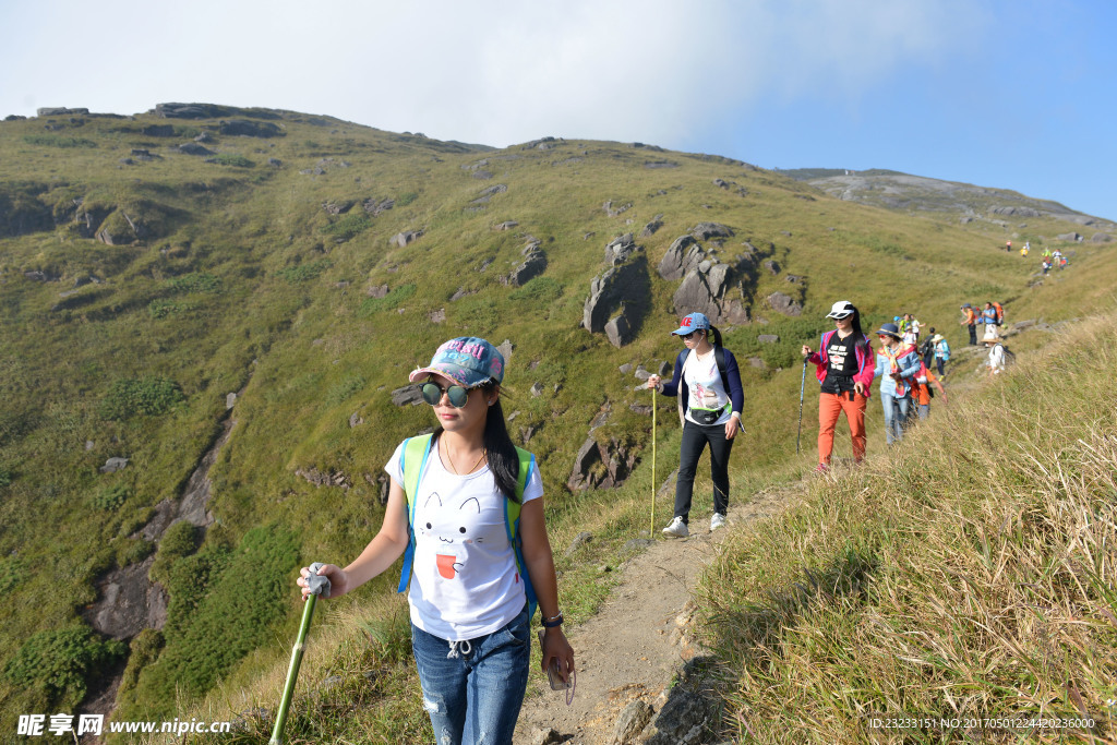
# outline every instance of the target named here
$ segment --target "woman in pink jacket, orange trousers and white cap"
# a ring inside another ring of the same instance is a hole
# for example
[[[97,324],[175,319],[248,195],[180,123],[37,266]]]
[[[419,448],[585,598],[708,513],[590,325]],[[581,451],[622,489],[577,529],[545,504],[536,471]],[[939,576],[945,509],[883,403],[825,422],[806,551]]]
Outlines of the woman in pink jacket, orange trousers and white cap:
[[[833,318],[834,331],[822,334],[819,351],[803,345],[803,356],[815,364],[815,376],[822,384],[819,393],[819,465],[830,468],[838,417],[846,412],[849,434],[853,440],[853,461],[865,458],[865,408],[872,385],[872,347],[861,331],[861,314],[848,300],[838,300],[827,314]]]

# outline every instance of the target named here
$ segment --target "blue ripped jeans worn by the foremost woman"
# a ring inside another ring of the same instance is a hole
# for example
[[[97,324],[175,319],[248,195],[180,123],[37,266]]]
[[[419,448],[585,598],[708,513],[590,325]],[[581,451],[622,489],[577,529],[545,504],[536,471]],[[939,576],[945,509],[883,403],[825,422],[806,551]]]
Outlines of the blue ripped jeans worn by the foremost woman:
[[[438,745],[512,745],[531,643],[527,605],[503,629],[454,646],[411,624],[423,708]]]

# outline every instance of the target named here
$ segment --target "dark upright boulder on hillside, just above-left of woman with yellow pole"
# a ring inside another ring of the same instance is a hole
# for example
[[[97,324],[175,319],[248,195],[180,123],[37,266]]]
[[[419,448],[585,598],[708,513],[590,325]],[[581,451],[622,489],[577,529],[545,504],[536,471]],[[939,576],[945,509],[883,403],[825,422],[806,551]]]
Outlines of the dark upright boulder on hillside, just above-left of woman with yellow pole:
[[[620,347],[639,332],[648,312],[648,259],[632,233],[626,233],[605,246],[605,262],[609,268],[590,283],[582,326],[593,334],[605,332],[610,343]]]

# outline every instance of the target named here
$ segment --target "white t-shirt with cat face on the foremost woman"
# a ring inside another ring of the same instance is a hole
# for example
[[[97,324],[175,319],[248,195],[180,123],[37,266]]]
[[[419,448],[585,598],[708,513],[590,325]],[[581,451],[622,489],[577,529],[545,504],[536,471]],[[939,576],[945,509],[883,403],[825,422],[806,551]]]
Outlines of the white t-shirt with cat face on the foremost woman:
[[[403,484],[395,449],[384,471]],[[543,496],[534,467],[524,504]],[[506,625],[527,602],[524,582],[504,517],[505,497],[488,466],[467,476],[442,465],[438,441],[419,481],[416,502],[416,553],[408,602],[411,622],[448,641],[476,639]]]

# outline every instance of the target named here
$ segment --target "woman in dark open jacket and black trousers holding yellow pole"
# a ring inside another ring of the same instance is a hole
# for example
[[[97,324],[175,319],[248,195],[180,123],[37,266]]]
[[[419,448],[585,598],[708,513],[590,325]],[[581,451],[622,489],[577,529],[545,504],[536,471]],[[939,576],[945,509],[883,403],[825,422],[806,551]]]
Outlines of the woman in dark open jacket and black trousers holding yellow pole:
[[[722,333],[701,313],[682,318],[671,334],[682,338],[685,350],[675,361],[670,383],[659,375],[648,379],[648,388],[663,395],[682,393],[682,442],[679,446],[679,474],[675,480],[675,517],[663,535],[685,538],[690,535],[690,498],[695,471],[706,445],[709,445],[709,471],[714,481],[714,516],[709,529],[725,525],[729,509],[729,451],[741,428],[745,394],[741,386],[737,360],[722,346]],[[714,343],[710,343],[710,335]]]

